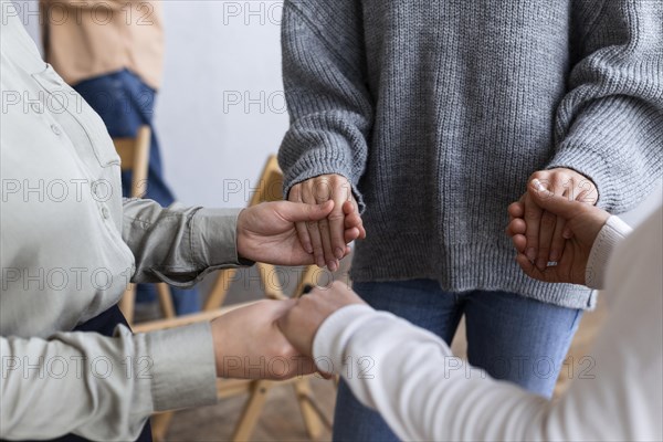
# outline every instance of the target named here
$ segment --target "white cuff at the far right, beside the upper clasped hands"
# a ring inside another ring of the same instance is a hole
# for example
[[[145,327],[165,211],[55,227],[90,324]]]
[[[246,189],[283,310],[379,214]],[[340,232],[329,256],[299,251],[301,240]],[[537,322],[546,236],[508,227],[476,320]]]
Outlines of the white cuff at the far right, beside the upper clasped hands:
[[[610,217],[603,228],[597,235],[585,271],[585,282],[590,288],[603,288],[606,284],[606,271],[608,262],[614,248],[619,244],[632,229],[618,217]]]

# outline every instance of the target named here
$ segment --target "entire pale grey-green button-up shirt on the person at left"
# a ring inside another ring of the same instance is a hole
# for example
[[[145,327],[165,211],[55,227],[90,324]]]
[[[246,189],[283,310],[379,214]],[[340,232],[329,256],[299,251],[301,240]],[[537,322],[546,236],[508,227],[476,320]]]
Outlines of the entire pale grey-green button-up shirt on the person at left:
[[[0,1],[0,439],[134,440],[154,411],[215,401],[210,325],[70,330],[128,278],[190,285],[241,264],[239,211],[123,199],[101,118]]]

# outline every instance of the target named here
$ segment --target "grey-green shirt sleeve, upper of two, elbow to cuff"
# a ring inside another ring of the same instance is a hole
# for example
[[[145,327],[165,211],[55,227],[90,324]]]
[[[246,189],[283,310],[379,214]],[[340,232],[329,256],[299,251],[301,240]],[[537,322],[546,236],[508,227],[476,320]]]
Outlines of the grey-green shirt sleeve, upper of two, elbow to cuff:
[[[131,282],[189,287],[212,271],[252,265],[238,255],[241,209],[203,209],[125,199],[123,239],[134,253]]]

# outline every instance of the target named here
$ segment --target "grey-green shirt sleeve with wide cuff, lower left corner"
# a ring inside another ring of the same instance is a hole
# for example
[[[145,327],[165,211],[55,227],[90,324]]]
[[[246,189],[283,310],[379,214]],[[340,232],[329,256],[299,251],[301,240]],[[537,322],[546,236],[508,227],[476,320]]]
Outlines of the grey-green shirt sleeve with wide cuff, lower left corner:
[[[0,439],[135,440],[154,411],[217,400],[210,324],[0,337]]]

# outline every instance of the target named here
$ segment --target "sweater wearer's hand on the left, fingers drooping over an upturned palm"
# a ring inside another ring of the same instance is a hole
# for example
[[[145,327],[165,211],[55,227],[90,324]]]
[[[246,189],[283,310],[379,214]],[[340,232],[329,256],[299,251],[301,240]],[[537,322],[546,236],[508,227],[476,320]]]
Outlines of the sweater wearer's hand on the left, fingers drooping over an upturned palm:
[[[327,265],[334,272],[338,269],[338,261],[347,254],[344,231],[347,229],[345,219],[349,213],[356,214],[359,220],[358,238],[366,238],[350,182],[340,175],[322,175],[299,182],[292,187],[288,200],[307,204],[334,201],[334,209],[325,219],[297,223],[299,241],[304,245],[304,250],[314,255],[314,262],[319,267]],[[348,202],[352,209],[349,212],[346,211]]]

